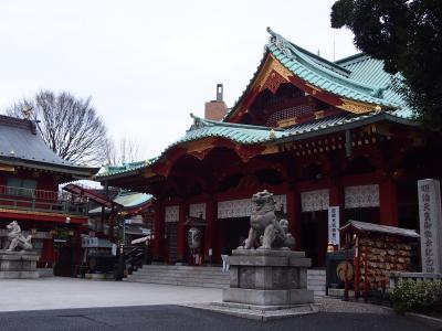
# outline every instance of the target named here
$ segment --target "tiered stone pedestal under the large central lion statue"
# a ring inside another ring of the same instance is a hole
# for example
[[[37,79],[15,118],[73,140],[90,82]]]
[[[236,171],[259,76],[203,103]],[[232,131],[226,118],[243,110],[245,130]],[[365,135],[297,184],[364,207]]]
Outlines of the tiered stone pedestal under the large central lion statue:
[[[312,260],[304,252],[236,249],[230,256],[230,288],[224,303],[285,309],[313,303],[307,290],[307,268]]]

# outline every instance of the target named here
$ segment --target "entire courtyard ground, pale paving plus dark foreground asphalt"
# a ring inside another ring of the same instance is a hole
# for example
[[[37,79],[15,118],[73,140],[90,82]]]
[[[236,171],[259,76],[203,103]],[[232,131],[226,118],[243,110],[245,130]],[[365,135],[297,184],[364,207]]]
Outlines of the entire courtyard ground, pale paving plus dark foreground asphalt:
[[[0,280],[0,331],[431,330],[377,306],[325,298],[319,313],[269,322],[175,306],[220,301],[221,290],[208,288],[52,278]]]

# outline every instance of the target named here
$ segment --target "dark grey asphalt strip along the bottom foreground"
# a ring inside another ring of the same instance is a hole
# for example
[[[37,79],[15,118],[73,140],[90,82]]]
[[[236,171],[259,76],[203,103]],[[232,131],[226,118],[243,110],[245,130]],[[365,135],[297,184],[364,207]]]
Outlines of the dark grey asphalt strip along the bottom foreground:
[[[0,313],[0,330],[431,330],[393,314],[319,312],[291,319],[257,322],[177,306],[91,308]]]

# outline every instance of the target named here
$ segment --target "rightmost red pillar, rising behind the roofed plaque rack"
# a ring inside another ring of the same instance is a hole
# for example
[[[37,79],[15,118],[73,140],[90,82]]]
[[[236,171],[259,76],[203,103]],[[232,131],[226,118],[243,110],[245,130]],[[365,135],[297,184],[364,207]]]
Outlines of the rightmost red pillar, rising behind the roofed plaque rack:
[[[397,186],[391,178],[379,183],[379,209],[381,225],[398,226]]]

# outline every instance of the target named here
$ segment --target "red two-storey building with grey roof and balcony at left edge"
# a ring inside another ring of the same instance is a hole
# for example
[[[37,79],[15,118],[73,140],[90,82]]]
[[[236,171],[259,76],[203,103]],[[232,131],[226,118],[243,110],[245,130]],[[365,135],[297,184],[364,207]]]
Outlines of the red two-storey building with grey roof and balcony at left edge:
[[[32,234],[39,267],[60,261],[70,275],[80,263],[82,226],[87,224],[87,200],[59,190],[62,183],[91,178],[97,168],[63,160],[42,140],[35,122],[0,116],[0,247],[7,245],[6,225],[18,221]]]

